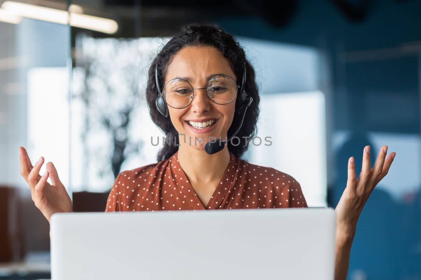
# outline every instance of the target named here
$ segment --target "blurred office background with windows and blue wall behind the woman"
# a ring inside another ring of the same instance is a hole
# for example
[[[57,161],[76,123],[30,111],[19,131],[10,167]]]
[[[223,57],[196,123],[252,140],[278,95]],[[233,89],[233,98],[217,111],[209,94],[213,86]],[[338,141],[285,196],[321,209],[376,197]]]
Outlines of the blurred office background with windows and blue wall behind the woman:
[[[273,5],[0,0],[0,279],[50,277],[49,226],[19,146],[54,163],[75,211],[103,211],[118,173],[156,162],[151,136],[163,133],[145,104],[147,69],[192,22],[245,48],[263,143],[243,158],[292,175],[310,207],[336,207],[347,160],[358,175],[365,145],[372,166],[382,145],[397,152],[361,213],[348,279],[421,279],[421,1]]]

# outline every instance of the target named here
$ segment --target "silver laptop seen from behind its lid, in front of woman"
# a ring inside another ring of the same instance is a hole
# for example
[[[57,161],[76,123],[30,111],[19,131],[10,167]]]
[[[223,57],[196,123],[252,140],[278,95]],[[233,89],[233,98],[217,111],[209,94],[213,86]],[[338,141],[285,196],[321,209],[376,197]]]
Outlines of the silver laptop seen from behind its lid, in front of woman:
[[[333,279],[332,208],[59,213],[52,280]]]

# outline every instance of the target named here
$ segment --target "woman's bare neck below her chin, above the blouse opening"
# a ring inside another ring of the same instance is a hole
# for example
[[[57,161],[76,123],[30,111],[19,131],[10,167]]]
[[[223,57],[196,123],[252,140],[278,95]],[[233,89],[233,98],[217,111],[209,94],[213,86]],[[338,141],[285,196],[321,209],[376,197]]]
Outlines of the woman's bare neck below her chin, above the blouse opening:
[[[215,154],[197,150],[192,146],[179,146],[178,159],[189,181],[209,183],[220,181],[229,163],[228,147]]]

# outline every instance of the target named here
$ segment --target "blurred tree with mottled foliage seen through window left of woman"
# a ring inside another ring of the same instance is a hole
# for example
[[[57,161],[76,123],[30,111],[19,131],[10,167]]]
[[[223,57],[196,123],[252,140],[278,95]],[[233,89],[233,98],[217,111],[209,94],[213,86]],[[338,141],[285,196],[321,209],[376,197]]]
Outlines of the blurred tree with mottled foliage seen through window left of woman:
[[[128,155],[139,153],[141,145],[139,140],[130,139],[129,128],[143,94],[139,87],[142,55],[135,40],[81,40],[76,65],[83,69],[84,76],[83,90],[77,95],[85,106],[81,135],[84,160],[89,162],[90,156],[96,157],[102,164],[99,175],[107,173],[111,166],[116,178]],[[107,140],[112,145],[112,152],[108,153],[103,145],[96,145]],[[104,161],[107,156],[109,161]]]

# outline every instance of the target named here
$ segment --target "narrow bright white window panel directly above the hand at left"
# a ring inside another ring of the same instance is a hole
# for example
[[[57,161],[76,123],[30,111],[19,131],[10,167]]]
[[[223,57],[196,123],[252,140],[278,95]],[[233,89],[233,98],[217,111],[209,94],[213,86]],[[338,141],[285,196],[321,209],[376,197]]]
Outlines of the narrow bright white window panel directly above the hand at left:
[[[69,187],[69,70],[66,67],[31,68],[27,76],[28,154],[32,164],[43,156],[53,162],[60,181]],[[50,178],[48,182],[51,183]]]

